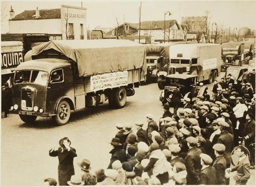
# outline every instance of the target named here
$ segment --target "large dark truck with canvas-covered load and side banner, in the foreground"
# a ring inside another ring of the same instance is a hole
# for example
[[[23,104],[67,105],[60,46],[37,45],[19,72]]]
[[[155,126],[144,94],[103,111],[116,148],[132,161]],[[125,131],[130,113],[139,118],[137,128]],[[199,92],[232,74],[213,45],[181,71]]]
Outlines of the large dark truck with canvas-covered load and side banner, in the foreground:
[[[109,104],[122,108],[146,76],[145,46],[130,40],[55,40],[32,48],[17,66],[10,112],[26,123],[51,116],[58,125],[71,110]]]

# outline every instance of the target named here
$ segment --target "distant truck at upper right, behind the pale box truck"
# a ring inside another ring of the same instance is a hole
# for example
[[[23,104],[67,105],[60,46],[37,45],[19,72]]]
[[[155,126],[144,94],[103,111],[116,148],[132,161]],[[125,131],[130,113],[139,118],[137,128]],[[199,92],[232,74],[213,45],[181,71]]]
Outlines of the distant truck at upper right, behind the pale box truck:
[[[222,44],[221,72],[225,72],[228,66],[241,66],[245,58],[244,43],[242,42],[223,42]]]

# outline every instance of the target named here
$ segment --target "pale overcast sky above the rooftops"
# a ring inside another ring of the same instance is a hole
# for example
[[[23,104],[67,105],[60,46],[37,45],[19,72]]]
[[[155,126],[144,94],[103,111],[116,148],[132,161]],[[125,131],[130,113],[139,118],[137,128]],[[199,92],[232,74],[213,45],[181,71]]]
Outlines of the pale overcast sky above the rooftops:
[[[87,22],[90,29],[96,26],[115,27],[116,18],[119,25],[125,22],[139,22],[140,1],[8,1],[6,14],[9,16],[10,5],[15,14],[24,10],[60,8],[60,5],[81,6],[87,8]],[[5,2],[2,2],[2,8]],[[224,28],[256,28],[256,1],[142,1],[141,20],[163,20],[164,12],[172,12],[166,19],[176,19],[179,23],[182,16],[203,16],[210,11],[212,22]],[[2,22],[8,25],[8,22]],[[2,33],[3,33],[2,28]]]

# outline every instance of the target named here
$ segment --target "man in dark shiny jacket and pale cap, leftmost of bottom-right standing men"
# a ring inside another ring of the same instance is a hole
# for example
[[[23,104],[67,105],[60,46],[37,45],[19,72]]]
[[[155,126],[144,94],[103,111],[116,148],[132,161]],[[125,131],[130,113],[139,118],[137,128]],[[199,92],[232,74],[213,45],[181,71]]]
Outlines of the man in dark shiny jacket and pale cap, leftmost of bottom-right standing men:
[[[201,159],[200,154],[202,151],[198,149],[197,138],[189,136],[186,138],[188,152],[185,157],[185,165],[187,169],[187,184],[199,184],[200,180],[200,170],[201,170]]]

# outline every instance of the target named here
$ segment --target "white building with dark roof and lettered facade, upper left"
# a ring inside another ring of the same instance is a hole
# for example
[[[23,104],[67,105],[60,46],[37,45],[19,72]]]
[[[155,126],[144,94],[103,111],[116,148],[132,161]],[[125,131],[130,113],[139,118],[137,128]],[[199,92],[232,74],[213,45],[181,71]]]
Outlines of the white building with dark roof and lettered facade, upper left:
[[[59,9],[10,11],[9,33],[44,33],[50,39],[87,39],[87,9],[61,5]]]

